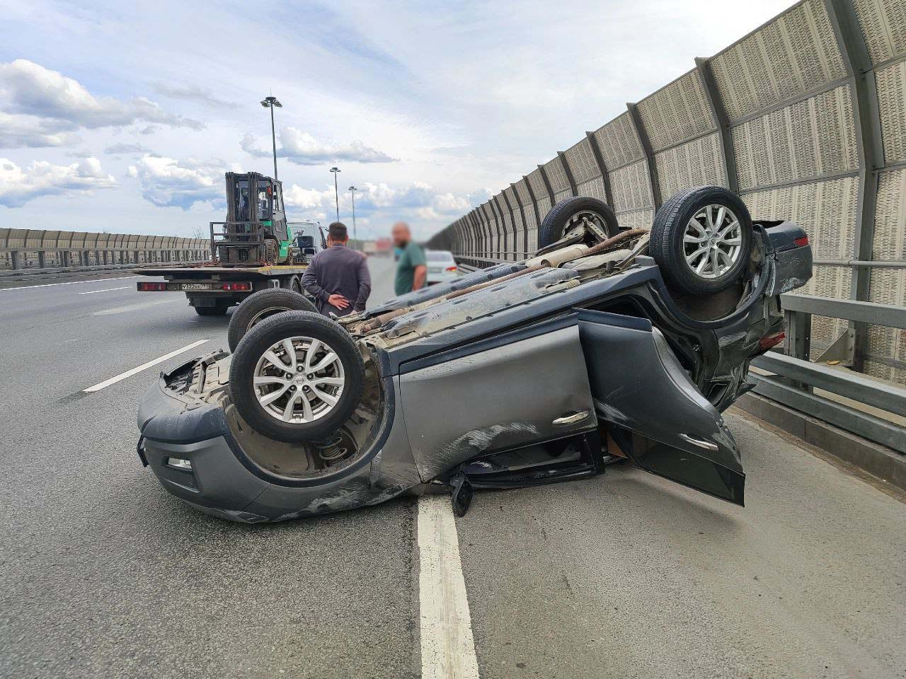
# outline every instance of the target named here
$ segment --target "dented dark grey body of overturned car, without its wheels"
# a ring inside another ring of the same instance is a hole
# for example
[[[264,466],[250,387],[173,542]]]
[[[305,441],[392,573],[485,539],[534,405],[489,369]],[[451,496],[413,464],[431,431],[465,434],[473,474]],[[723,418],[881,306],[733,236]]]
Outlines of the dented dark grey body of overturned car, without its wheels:
[[[336,512],[457,478],[575,479],[624,457],[741,505],[745,473],[721,412],[749,388],[749,361],[783,337],[779,295],[812,273],[798,226],[756,223],[754,234],[747,273],[708,298],[671,292],[627,240],[559,266],[498,264],[342,319],[364,389],[329,450],[255,432],[229,396],[233,357],[194,359],[149,388],[140,457],[169,493],[234,521]]]

